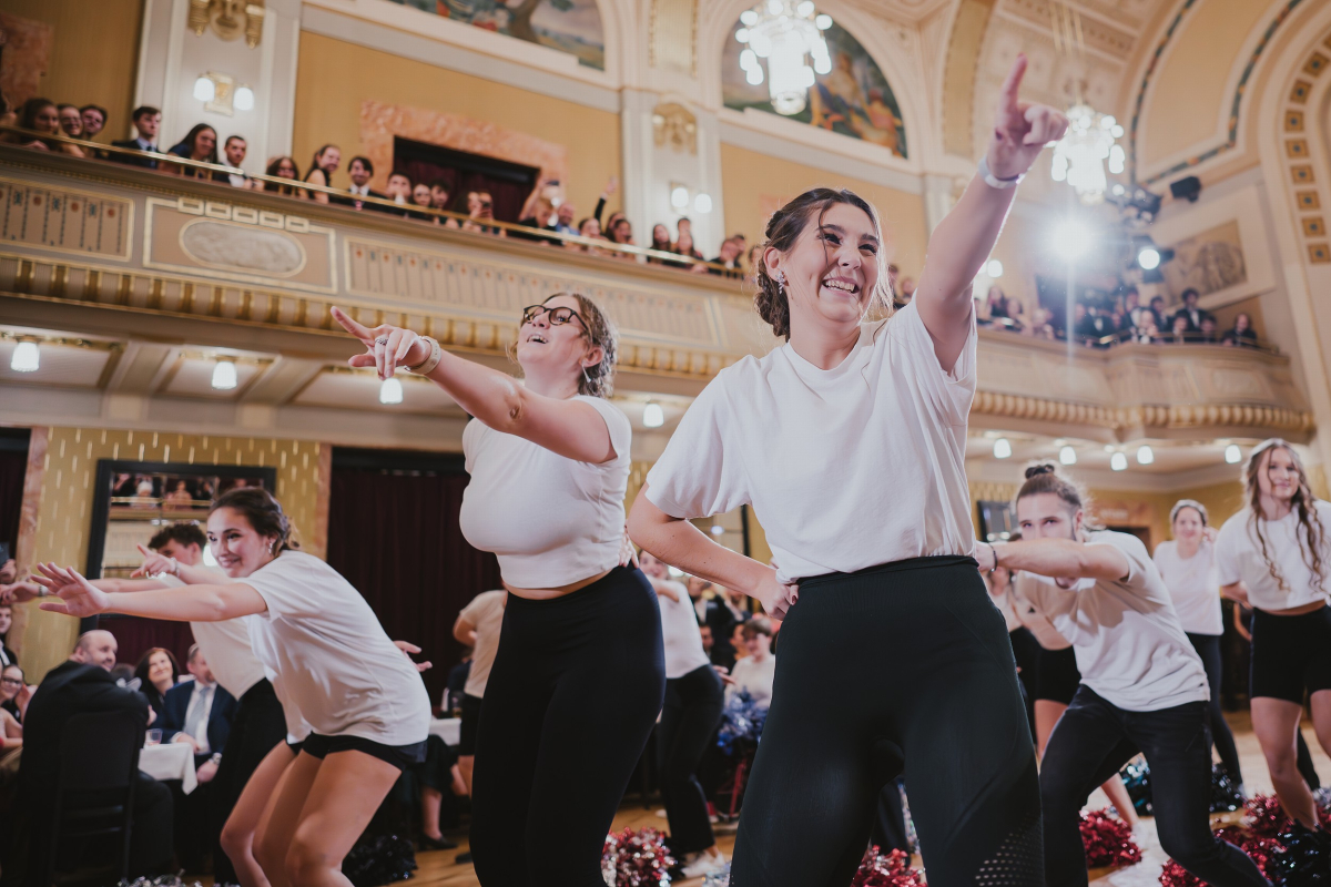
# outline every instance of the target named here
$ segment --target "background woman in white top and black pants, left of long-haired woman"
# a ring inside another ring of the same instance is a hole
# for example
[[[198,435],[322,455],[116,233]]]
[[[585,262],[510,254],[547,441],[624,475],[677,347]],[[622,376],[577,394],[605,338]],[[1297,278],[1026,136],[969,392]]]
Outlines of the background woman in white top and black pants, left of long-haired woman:
[[[1225,622],[1221,613],[1221,580],[1215,572],[1217,531],[1209,523],[1206,505],[1193,499],[1174,503],[1169,523],[1174,539],[1155,547],[1155,568],[1174,601],[1178,621],[1206,669],[1211,689],[1207,717],[1221,766],[1238,786],[1239,794],[1246,797],[1239,750],[1221,710],[1221,636],[1225,634]]]

